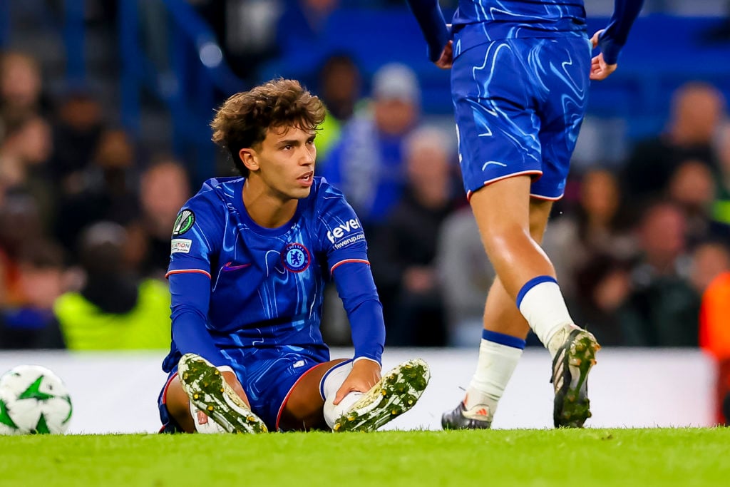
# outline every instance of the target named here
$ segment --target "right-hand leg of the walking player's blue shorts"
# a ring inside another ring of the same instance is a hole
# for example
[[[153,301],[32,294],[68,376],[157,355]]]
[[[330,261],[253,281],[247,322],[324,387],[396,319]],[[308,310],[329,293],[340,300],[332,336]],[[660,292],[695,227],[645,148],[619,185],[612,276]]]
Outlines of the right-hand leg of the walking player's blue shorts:
[[[546,39],[543,63],[553,66],[545,77],[545,98],[539,107],[542,177],[534,181],[533,196],[556,200],[563,196],[580,126],[588,104],[591,51],[583,37]]]

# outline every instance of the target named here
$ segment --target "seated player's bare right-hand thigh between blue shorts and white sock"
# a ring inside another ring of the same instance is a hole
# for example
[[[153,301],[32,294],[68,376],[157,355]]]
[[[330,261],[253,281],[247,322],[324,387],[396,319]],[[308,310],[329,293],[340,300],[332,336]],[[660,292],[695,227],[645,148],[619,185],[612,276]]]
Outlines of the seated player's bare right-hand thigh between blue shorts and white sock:
[[[320,391],[322,377],[329,369],[346,361],[337,358],[312,367],[289,391],[279,419],[279,427],[285,431],[299,429],[325,429],[322,408],[324,399]]]

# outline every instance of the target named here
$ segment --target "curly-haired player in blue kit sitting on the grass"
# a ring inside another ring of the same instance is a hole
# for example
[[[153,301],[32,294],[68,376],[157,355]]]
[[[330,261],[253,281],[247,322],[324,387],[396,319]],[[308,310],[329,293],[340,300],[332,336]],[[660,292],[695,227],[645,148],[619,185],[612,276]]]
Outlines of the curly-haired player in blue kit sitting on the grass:
[[[164,432],[372,431],[429,380],[413,359],[382,378],[385,325],[360,221],[314,177],[322,102],[294,80],[231,96],[212,121],[242,177],[208,180],[172,230]],[[355,355],[320,333],[333,278]],[[210,421],[212,419],[212,421]]]

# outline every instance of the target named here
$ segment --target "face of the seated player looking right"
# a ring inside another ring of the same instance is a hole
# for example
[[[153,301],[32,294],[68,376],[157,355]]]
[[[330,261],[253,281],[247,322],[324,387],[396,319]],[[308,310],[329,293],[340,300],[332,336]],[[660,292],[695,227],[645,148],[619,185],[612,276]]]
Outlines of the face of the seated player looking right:
[[[258,176],[276,196],[302,199],[310,194],[315,175],[315,131],[296,126],[272,127],[255,151]]]

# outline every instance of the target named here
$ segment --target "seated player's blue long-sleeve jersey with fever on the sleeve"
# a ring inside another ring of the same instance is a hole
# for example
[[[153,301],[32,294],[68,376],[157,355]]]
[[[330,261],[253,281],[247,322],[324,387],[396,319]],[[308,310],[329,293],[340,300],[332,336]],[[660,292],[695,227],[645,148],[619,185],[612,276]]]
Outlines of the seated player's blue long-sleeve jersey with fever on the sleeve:
[[[180,211],[168,278],[172,346],[163,369],[192,352],[215,365],[228,350],[296,350],[328,360],[320,333],[323,288],[334,275],[353,329],[355,356],[380,362],[382,306],[363,229],[336,188],[315,177],[284,226],[267,229],[248,215],[245,178],[208,180]]]

